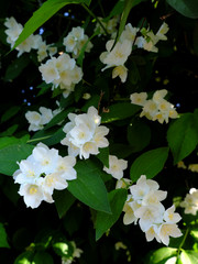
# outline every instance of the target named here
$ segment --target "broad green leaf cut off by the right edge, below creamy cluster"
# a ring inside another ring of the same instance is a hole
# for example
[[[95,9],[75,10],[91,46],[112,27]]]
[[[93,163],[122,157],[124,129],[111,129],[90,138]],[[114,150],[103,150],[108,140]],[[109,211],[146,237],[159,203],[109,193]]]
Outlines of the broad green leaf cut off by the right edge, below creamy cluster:
[[[198,143],[195,116],[185,113],[174,121],[167,131],[167,141],[174,156],[174,164],[188,156]]]

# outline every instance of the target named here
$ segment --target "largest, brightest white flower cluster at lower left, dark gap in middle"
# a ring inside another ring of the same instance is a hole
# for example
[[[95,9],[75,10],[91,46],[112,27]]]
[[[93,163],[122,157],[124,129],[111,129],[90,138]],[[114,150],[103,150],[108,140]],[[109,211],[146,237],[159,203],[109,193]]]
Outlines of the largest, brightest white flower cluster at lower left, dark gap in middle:
[[[67,180],[76,179],[75,164],[75,157],[62,157],[57,150],[38,143],[32,154],[19,163],[20,168],[13,174],[14,183],[21,185],[19,194],[26,207],[36,208],[43,200],[53,202],[54,189],[65,189]]]

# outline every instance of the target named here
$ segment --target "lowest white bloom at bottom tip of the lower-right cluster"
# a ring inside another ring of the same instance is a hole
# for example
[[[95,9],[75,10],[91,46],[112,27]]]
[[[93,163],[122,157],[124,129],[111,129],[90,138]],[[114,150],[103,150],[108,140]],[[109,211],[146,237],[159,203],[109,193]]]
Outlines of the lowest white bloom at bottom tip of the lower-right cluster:
[[[157,235],[162,243],[169,244],[169,237],[179,238],[183,235],[176,223],[162,223],[158,228]]]

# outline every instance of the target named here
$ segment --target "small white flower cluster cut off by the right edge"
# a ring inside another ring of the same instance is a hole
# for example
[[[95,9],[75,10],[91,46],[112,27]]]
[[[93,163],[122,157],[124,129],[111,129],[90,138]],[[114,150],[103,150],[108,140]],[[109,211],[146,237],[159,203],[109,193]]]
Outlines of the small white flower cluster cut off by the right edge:
[[[185,213],[196,216],[198,211],[198,189],[191,188],[189,194],[186,195],[184,201],[180,202],[180,207],[185,208]]]

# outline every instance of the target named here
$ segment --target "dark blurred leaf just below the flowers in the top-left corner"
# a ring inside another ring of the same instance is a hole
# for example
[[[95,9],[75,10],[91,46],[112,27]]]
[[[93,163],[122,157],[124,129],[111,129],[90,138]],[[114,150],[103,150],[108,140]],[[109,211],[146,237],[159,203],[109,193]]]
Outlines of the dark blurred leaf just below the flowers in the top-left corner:
[[[29,65],[30,62],[31,62],[30,57],[26,54],[14,59],[7,68],[4,80],[15,79],[22,73],[22,70]]]

